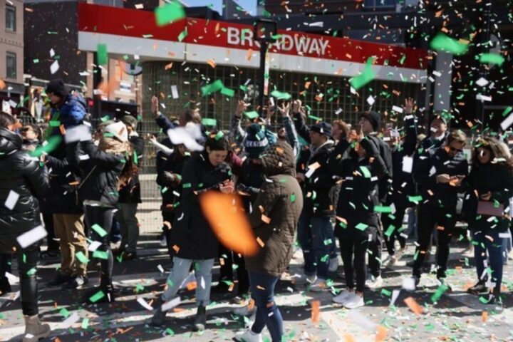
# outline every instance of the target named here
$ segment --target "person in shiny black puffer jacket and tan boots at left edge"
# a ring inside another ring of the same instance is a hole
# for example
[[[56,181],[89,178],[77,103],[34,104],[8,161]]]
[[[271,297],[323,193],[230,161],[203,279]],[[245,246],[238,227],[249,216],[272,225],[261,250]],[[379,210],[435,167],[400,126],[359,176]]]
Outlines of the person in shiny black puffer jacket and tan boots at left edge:
[[[48,172],[46,167],[39,165],[37,158],[22,152],[22,140],[14,133],[15,125],[14,117],[0,113],[0,286],[2,294],[9,290],[4,275],[8,254],[16,247],[21,310],[25,319],[23,342],[39,341],[39,338],[50,335],[50,326],[41,324],[38,317],[36,269],[39,247],[36,242],[22,248],[16,238],[41,226],[36,197],[43,196],[48,190]],[[16,195],[17,199],[13,200]],[[8,199],[9,203],[6,203]]]

